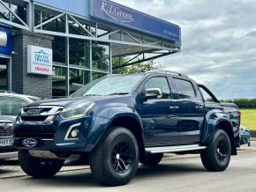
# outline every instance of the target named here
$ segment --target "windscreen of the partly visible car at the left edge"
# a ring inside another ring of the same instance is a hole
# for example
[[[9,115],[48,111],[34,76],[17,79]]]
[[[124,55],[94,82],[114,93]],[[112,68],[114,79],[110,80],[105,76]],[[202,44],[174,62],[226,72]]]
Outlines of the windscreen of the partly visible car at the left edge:
[[[27,102],[19,98],[0,97],[0,115],[19,114],[21,107],[25,106]]]

